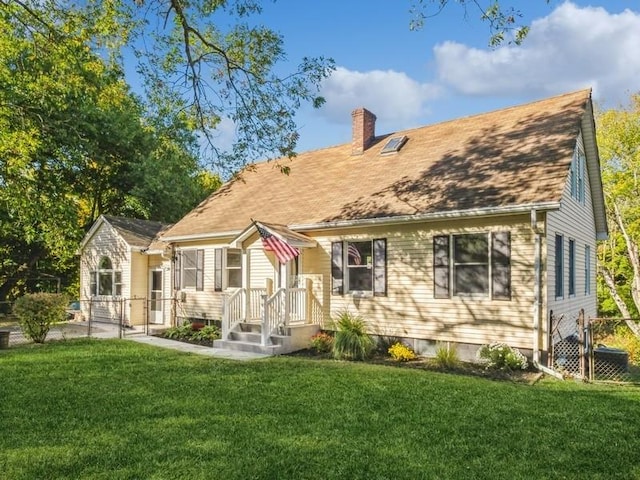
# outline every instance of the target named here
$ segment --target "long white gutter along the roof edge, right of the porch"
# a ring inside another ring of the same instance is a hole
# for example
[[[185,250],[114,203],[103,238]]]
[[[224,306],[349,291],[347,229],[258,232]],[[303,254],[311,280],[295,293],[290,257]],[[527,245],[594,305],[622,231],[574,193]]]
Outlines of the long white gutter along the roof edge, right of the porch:
[[[432,220],[447,220],[462,217],[505,216],[515,214],[529,214],[532,209],[538,211],[558,210],[560,202],[544,202],[529,205],[515,205],[510,207],[474,208],[471,210],[452,210],[448,212],[434,212],[394,217],[364,218],[361,220],[336,220],[334,222],[291,224],[289,228],[295,231],[318,230],[324,228],[349,228],[363,225],[394,225],[398,223],[418,223]]]

